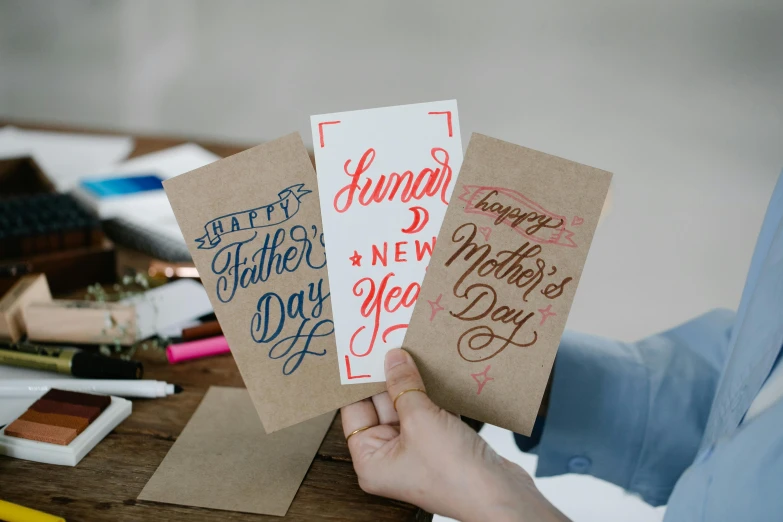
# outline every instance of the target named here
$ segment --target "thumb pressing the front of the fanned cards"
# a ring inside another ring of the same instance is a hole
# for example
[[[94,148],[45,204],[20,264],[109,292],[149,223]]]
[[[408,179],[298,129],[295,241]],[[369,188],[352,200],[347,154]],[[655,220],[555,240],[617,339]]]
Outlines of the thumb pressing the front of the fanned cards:
[[[435,406],[427,397],[419,369],[408,352],[400,348],[389,350],[386,353],[385,369],[386,389],[396,403],[394,406],[400,419],[417,409]]]

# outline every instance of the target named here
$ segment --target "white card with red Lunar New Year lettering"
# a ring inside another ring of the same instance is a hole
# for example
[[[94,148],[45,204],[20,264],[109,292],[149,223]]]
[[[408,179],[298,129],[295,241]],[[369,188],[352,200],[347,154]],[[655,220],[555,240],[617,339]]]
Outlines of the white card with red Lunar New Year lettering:
[[[311,117],[343,384],[382,382],[462,164],[457,102]]]

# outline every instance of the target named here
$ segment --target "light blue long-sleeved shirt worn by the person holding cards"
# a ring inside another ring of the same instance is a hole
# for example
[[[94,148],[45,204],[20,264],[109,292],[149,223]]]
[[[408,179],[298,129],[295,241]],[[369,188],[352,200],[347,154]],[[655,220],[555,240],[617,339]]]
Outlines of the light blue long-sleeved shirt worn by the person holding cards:
[[[742,418],[783,345],[783,173],[736,313],[624,343],[566,332],[536,474],[590,474],[667,521],[783,520],[783,400]]]

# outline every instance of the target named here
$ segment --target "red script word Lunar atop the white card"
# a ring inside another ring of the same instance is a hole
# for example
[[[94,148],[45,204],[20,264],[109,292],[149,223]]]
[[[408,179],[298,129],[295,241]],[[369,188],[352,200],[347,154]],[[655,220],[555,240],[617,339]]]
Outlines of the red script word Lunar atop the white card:
[[[351,160],[348,159],[343,165],[343,171],[351,181],[335,194],[334,209],[342,213],[351,208],[357,191],[358,203],[363,207],[372,203],[393,201],[398,194],[399,201],[408,203],[412,199],[421,200],[440,193],[441,201],[448,204],[446,192],[452,175],[449,153],[446,149],[434,147],[430,150],[430,156],[438,165],[437,168],[423,168],[415,176],[411,170],[406,170],[402,174],[392,172],[388,176],[381,174],[377,181],[368,176],[362,178],[375,160],[375,149],[367,149],[353,171],[350,170]]]

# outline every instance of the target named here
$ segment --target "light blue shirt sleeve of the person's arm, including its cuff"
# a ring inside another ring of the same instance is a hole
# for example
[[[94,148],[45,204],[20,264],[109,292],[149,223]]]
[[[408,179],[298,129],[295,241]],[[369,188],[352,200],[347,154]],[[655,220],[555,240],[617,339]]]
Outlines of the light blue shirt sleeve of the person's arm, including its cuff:
[[[733,321],[713,310],[636,343],[566,332],[536,475],[589,474],[665,504],[696,456]]]

